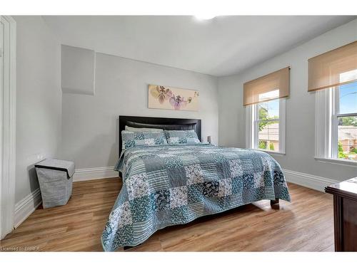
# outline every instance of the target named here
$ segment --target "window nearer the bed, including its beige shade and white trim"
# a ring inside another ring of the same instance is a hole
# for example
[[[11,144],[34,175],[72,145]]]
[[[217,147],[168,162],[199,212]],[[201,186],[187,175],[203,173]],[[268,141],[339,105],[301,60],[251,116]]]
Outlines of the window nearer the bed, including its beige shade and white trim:
[[[244,84],[246,147],[285,154],[289,68]]]

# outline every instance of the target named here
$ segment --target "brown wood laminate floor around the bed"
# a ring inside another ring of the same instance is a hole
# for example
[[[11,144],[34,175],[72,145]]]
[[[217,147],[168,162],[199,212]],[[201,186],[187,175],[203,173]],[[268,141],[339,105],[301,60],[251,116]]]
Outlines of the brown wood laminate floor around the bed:
[[[102,251],[101,232],[120,188],[118,178],[74,183],[66,206],[40,206],[0,241],[1,249]],[[278,208],[258,201],[167,227],[127,251],[333,251],[332,197],[296,184],[289,190],[292,202]]]

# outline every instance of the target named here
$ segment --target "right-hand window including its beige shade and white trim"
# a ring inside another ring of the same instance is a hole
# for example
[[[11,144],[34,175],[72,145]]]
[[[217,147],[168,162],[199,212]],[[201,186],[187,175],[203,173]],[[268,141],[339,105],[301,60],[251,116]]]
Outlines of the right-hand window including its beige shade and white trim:
[[[316,159],[357,165],[357,42],[309,59]]]

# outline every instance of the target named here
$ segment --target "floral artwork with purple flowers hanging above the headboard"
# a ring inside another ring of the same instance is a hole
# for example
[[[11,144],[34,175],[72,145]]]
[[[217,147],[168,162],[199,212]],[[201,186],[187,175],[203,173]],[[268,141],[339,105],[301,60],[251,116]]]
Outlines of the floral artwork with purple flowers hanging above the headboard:
[[[198,90],[149,85],[149,108],[198,111]]]

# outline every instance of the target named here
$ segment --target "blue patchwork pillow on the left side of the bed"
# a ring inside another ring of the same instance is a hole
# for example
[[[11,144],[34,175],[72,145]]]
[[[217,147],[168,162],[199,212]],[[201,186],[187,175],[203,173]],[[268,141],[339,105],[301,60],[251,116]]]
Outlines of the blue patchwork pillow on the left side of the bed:
[[[123,130],[121,131],[121,140],[123,142],[122,150],[139,145],[167,145],[164,132],[129,132]]]

